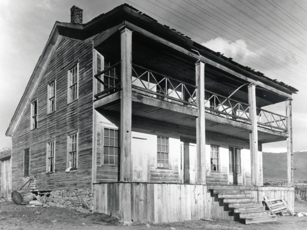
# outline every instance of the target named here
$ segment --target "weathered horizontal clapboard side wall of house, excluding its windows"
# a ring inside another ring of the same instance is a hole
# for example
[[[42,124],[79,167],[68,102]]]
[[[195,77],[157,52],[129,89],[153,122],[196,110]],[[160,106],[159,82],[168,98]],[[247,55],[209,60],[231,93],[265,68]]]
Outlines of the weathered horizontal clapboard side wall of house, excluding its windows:
[[[79,99],[68,104],[68,70],[79,62]],[[56,80],[56,111],[47,113],[47,86]],[[30,148],[29,189],[64,190],[91,187],[92,163],[92,46],[62,38],[31,101],[37,99],[38,125],[30,130],[31,105],[12,136],[12,187],[20,188],[23,177],[24,149]],[[68,167],[67,136],[78,131],[78,170]],[[55,140],[55,172],[46,174],[46,145]]]

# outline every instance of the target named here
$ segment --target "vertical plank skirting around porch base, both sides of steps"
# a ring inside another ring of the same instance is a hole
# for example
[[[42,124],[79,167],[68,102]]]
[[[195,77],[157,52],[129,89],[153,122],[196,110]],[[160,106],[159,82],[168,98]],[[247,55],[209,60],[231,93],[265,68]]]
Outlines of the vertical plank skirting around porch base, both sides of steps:
[[[103,183],[94,185],[94,211],[112,214],[135,223],[172,223],[211,219],[234,221],[231,210],[213,195],[207,185],[156,183]],[[211,186],[212,188],[213,186]],[[228,189],[229,186],[227,186]],[[222,189],[221,186],[217,188]],[[263,201],[263,196],[283,197],[294,210],[294,189],[281,187],[236,186]],[[130,197],[130,207],[123,197]],[[127,203],[126,203],[127,204]],[[128,218],[128,219],[126,219]]]

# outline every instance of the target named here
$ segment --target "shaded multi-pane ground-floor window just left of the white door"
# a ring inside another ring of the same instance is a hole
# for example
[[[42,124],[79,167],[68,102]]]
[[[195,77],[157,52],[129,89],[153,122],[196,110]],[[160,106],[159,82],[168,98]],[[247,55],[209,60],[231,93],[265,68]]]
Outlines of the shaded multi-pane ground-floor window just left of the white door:
[[[103,163],[118,164],[119,163],[119,132],[118,129],[103,129]]]

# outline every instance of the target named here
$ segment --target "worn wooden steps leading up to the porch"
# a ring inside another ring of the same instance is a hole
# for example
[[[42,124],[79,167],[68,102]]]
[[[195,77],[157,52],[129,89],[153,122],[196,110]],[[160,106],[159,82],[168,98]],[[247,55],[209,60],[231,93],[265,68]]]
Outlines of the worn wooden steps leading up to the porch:
[[[244,224],[276,221],[276,215],[271,215],[271,211],[266,210],[261,201],[257,201],[255,197],[251,197],[251,194],[245,193],[244,190],[212,189],[211,192],[223,201],[223,205],[228,206],[228,210],[233,209],[233,212],[230,213],[233,214],[235,221]]]

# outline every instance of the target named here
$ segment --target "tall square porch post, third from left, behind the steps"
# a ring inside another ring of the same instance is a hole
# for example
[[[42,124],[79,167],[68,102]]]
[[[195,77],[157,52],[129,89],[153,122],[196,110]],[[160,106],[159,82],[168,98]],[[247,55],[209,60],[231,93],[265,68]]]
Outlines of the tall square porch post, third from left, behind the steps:
[[[258,156],[258,128],[257,128],[257,109],[256,109],[256,85],[248,85],[248,104],[249,117],[251,119],[252,132],[250,132],[251,150],[251,185],[259,185],[259,156]]]

